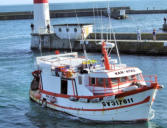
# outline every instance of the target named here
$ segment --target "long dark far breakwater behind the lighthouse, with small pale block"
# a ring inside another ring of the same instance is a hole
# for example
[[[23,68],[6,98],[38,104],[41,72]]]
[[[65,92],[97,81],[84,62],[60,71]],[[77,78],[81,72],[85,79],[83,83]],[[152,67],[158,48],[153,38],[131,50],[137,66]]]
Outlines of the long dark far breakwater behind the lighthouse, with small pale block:
[[[167,13],[167,10],[132,10],[130,7],[112,7],[112,8],[86,8],[86,9],[67,9],[67,10],[50,10],[50,18],[63,17],[84,17],[84,16],[107,16],[110,15],[115,19],[127,18],[130,14],[161,14]],[[25,12],[0,12],[0,20],[21,20],[33,19],[34,13]]]

